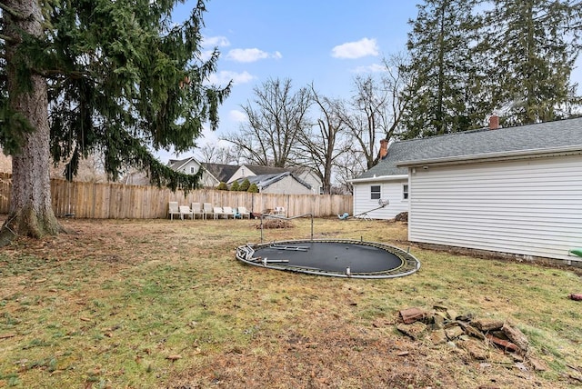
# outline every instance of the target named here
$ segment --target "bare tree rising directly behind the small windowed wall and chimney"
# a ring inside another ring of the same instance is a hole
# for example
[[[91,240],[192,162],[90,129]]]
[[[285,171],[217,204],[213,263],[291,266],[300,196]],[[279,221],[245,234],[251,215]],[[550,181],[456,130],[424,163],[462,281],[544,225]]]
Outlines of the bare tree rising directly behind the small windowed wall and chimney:
[[[385,72],[379,79],[372,75],[356,77],[355,95],[337,106],[354,137],[354,152],[364,156],[368,169],[378,162],[379,140],[389,141],[396,135],[406,108],[407,101],[401,94],[408,80],[402,70],[405,60],[404,55],[384,59]]]

